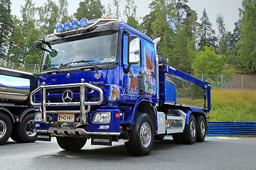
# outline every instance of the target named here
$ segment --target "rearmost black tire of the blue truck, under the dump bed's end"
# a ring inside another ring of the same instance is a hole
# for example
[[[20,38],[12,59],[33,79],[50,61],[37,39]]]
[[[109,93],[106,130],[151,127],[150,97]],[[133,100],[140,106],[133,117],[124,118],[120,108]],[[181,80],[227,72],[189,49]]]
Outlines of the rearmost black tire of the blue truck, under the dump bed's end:
[[[200,115],[196,119],[197,137],[196,142],[203,142],[206,138],[206,120]]]

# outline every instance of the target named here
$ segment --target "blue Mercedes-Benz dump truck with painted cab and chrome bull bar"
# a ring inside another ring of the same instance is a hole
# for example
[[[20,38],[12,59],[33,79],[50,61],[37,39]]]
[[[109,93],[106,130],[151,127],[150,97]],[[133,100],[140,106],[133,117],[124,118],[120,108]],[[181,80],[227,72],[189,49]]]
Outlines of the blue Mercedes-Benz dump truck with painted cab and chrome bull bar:
[[[146,155],[154,140],[203,142],[210,84],[156,54],[160,38],[112,18],[59,24],[33,44],[43,50],[38,88],[31,93],[37,140],[56,137],[65,150],[124,142]]]

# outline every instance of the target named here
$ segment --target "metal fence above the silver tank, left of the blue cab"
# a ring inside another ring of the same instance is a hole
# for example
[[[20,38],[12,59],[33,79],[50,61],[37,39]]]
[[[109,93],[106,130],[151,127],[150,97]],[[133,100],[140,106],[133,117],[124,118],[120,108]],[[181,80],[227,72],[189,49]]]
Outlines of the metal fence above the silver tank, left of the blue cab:
[[[6,60],[0,60],[0,67],[7,69],[16,69],[23,72],[38,73],[40,64],[21,64],[15,62],[7,62]]]

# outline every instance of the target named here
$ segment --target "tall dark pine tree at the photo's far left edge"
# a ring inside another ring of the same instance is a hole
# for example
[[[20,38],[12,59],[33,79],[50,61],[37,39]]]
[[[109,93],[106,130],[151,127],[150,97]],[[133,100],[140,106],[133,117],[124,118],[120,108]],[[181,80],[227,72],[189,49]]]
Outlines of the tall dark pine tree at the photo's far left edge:
[[[0,2],[0,58],[6,57],[6,39],[11,35],[13,27],[11,17],[11,1],[1,0]]]

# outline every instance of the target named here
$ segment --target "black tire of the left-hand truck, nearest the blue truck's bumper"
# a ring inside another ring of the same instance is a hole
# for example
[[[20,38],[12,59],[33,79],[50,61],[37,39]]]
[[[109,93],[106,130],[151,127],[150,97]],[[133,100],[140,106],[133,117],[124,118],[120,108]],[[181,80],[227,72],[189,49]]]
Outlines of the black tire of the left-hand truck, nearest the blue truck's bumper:
[[[14,125],[11,139],[20,142],[28,143],[36,141],[36,130],[34,127],[34,114],[29,113],[23,117],[21,123]]]

